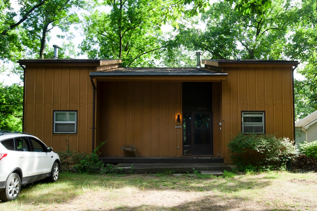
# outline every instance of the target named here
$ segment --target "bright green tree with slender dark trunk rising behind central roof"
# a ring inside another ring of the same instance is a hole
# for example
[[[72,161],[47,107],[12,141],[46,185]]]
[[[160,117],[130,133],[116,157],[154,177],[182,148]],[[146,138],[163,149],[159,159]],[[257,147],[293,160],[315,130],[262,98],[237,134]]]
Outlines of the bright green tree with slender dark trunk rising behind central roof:
[[[153,66],[152,53],[163,47],[153,30],[146,1],[105,1],[111,12],[96,10],[83,23],[81,50],[88,58],[123,59],[124,66]]]

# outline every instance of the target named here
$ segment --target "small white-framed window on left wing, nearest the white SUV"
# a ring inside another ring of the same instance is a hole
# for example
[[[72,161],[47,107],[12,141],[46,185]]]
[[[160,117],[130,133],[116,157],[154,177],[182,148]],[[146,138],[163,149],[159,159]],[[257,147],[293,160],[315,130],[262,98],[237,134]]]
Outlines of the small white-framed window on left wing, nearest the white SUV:
[[[54,133],[77,133],[77,111],[54,111]]]

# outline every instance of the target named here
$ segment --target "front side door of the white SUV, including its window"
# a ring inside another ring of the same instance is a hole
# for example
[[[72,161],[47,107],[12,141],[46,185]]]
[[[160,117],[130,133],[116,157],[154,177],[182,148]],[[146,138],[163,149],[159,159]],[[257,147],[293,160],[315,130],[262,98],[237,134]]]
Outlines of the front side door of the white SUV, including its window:
[[[47,152],[44,143],[36,138],[29,137],[33,153],[35,154],[35,165],[37,179],[44,178],[51,171],[51,153]]]

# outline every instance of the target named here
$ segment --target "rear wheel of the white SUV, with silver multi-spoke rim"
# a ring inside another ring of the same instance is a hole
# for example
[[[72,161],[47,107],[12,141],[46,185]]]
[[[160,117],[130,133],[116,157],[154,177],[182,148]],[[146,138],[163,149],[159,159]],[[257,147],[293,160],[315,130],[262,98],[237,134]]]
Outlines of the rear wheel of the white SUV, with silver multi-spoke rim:
[[[21,191],[21,179],[17,173],[11,173],[5,185],[5,189],[0,192],[0,200],[7,202],[15,200]]]

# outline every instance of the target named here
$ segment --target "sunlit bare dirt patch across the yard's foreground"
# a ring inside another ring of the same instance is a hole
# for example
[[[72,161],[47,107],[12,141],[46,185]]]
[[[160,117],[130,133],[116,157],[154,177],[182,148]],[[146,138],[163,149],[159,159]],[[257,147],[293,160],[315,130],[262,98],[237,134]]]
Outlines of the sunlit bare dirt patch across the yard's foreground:
[[[246,188],[237,189],[230,187],[217,189],[208,186],[209,181],[202,185],[199,191],[185,189],[139,189],[125,187],[120,189],[108,189],[102,191],[89,190],[84,195],[74,197],[67,202],[54,203],[49,208],[47,205],[38,205],[32,210],[74,210],[74,211],[143,211],[143,210],[317,210],[317,174],[312,173],[312,179],[266,178],[263,174],[253,176],[254,183],[239,179],[239,183],[245,183]],[[294,174],[296,175],[296,174]],[[133,177],[149,177],[147,175],[134,175]],[[243,176],[236,176],[243,177]],[[209,180],[209,179],[206,179]],[[211,181],[212,179],[210,179]],[[248,183],[253,184],[248,187]],[[227,183],[234,186],[235,183]]]

